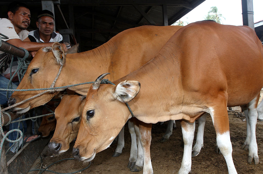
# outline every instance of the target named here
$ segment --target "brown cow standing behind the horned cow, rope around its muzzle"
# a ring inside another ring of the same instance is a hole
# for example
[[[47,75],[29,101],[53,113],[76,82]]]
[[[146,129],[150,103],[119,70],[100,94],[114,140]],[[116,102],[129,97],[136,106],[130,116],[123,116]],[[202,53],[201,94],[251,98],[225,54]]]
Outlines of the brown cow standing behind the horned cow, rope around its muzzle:
[[[59,43],[52,48],[40,49],[17,89],[48,88],[55,79],[59,67],[63,68],[55,86],[64,86],[92,81],[97,74],[110,72],[110,80],[116,80],[133,72],[148,62],[181,26],[140,26],[120,32],[107,43],[93,50],[68,54]],[[90,85],[69,88],[86,95]],[[14,92],[9,105],[27,99],[41,91]],[[13,111],[27,112],[29,109],[47,103],[56,93],[45,93],[33,100],[16,106]]]

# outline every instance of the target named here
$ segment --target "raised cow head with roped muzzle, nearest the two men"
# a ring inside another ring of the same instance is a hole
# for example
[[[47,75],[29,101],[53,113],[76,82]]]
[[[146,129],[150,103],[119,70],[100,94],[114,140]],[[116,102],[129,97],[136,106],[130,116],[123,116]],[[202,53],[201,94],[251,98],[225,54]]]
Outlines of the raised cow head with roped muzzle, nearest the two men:
[[[41,48],[30,62],[26,74],[17,89],[49,88],[54,81],[60,65],[65,62],[65,52],[63,46],[55,42],[51,47]],[[48,74],[48,75],[47,75]],[[8,105],[13,105],[42,91],[15,91],[8,101]],[[43,105],[51,100],[58,92],[45,93],[41,97],[36,97],[19,106],[13,108],[17,113],[27,112],[29,109]]]

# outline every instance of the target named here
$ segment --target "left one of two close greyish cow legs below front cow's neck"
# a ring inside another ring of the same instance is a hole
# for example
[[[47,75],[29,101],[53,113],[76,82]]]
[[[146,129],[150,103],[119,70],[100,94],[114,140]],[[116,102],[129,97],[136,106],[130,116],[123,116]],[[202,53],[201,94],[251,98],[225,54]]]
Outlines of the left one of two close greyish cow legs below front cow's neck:
[[[136,141],[133,119],[134,118],[130,118],[128,120],[129,132],[131,134],[131,150],[130,150],[129,164],[127,166],[128,168],[133,167],[135,165],[135,162],[137,161],[137,143],[136,143],[137,141]]]

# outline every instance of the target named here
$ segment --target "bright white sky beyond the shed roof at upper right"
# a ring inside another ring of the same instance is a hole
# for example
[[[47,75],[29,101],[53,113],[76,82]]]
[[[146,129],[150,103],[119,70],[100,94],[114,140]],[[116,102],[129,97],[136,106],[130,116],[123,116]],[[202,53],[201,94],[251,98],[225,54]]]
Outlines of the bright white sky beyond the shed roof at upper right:
[[[181,21],[192,23],[204,20],[211,7],[216,6],[222,19],[222,24],[243,25],[241,0],[206,0],[182,17]],[[254,23],[263,20],[263,0],[253,0]],[[184,23],[186,25],[186,23]]]

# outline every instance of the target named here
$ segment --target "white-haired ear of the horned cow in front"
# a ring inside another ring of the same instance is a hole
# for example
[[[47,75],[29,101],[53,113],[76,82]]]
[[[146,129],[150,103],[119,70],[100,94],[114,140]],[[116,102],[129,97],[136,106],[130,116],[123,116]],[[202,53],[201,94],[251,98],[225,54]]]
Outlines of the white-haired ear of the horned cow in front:
[[[129,102],[139,93],[140,87],[139,81],[122,81],[116,86],[113,97],[121,102]]]

